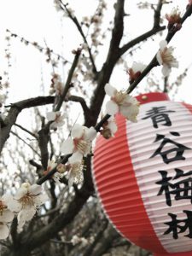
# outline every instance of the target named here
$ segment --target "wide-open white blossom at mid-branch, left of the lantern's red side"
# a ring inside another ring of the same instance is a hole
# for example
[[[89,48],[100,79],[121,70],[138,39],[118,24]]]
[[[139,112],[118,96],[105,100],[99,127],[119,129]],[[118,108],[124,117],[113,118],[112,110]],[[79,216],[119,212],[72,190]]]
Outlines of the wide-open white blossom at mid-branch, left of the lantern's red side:
[[[74,125],[72,138],[67,138],[61,145],[63,154],[73,154],[70,163],[81,162],[83,156],[90,153],[91,142],[96,137],[96,130],[93,127],[87,128],[82,125]]]

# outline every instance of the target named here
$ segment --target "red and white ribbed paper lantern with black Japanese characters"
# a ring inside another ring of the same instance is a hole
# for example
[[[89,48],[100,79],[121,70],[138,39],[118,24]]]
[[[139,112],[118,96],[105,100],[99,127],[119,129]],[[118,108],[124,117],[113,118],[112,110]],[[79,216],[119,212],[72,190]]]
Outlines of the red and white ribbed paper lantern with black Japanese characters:
[[[139,96],[137,123],[96,141],[93,177],[104,211],[128,240],[155,256],[192,255],[192,106]]]

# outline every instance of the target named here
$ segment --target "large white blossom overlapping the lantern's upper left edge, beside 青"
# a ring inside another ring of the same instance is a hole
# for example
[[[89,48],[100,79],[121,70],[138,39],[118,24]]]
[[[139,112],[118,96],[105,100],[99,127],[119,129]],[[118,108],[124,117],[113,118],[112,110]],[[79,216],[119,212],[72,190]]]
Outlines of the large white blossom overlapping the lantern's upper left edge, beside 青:
[[[106,104],[106,112],[110,115],[121,113],[131,122],[137,122],[139,113],[139,102],[137,99],[128,95],[126,92],[116,90],[112,85],[105,85],[105,92],[111,96]]]

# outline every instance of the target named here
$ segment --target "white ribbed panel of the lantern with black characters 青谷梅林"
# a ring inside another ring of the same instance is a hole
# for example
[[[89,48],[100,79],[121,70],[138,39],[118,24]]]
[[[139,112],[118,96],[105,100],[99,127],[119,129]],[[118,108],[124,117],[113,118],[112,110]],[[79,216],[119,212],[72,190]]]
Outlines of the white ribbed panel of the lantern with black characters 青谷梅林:
[[[150,102],[126,130],[143,204],[162,246],[168,253],[192,250],[192,114],[182,103]]]

